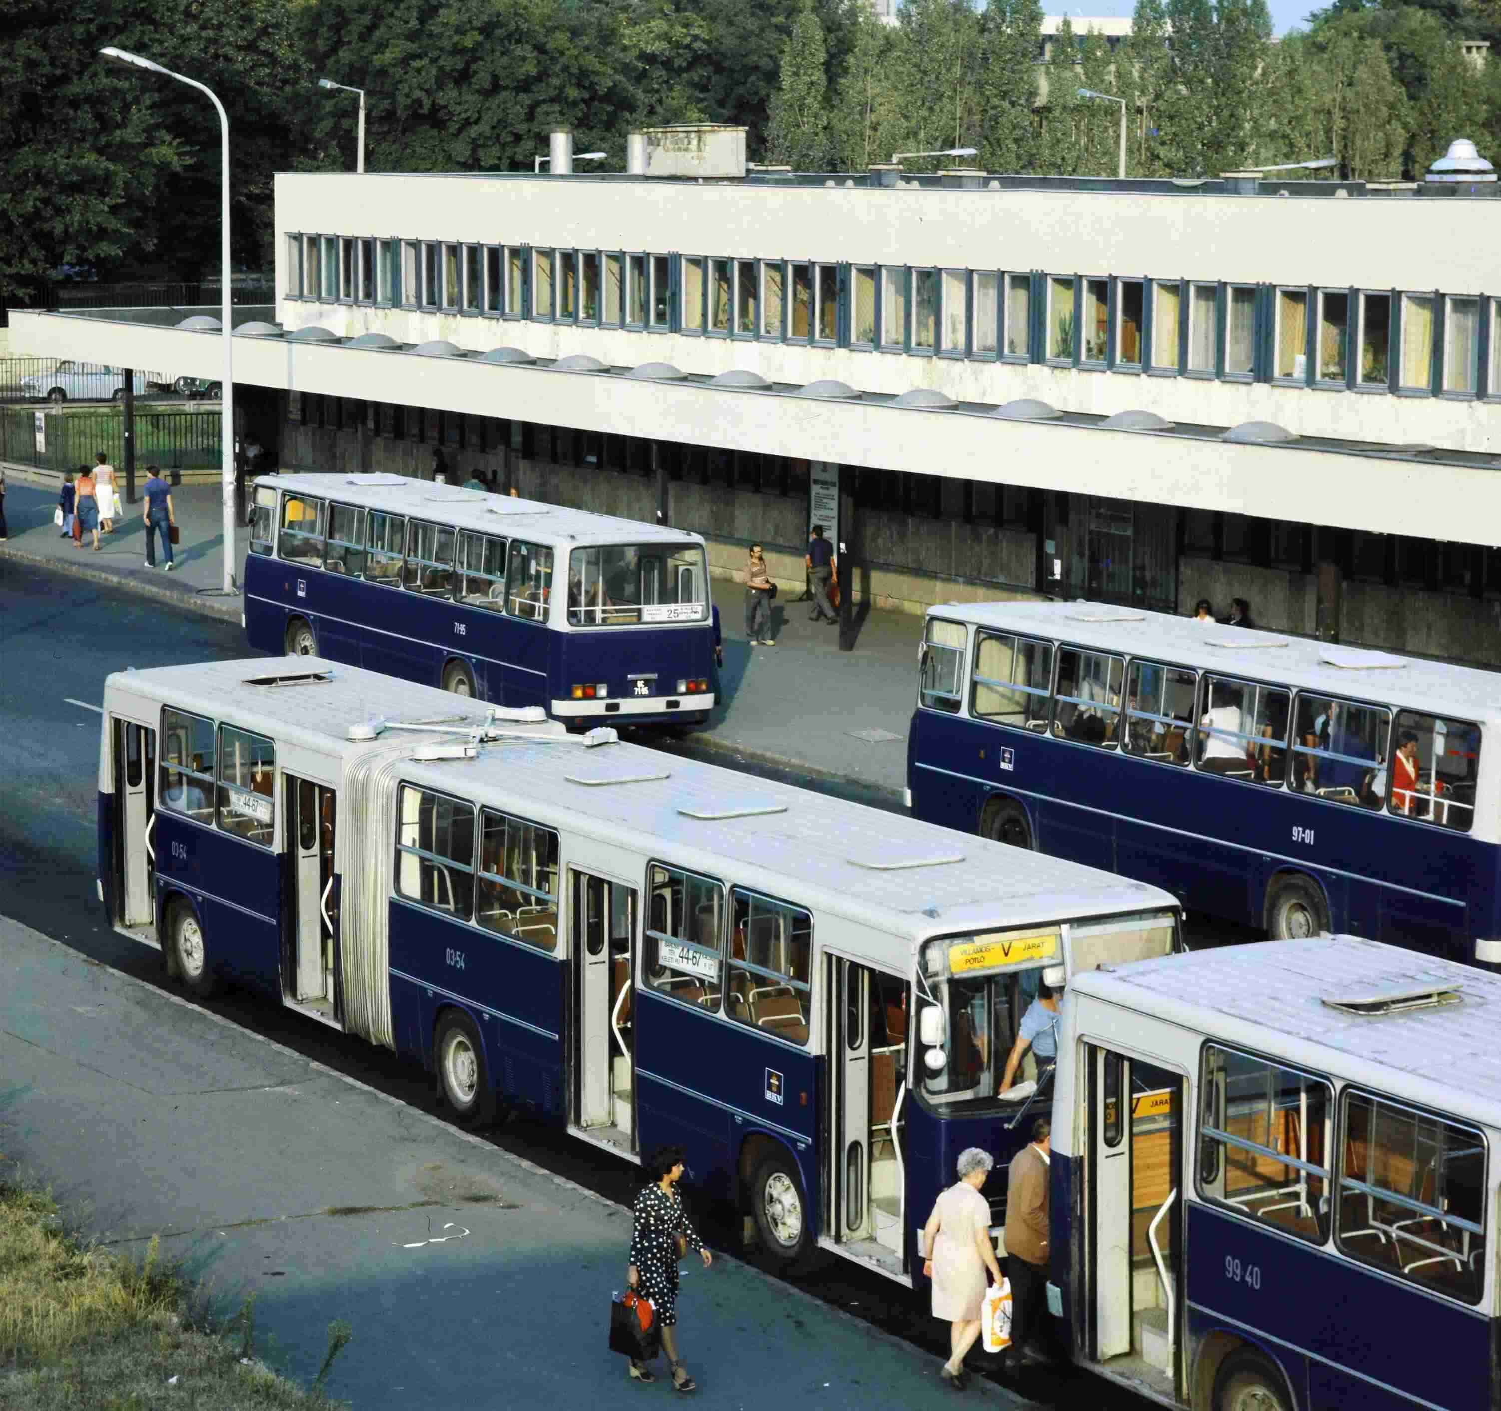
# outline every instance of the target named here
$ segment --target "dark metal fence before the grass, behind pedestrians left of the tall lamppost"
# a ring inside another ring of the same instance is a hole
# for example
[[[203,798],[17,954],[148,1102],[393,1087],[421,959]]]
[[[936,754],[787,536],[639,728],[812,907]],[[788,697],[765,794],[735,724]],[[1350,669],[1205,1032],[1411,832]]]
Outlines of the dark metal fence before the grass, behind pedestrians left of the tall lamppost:
[[[159,410],[135,416],[135,464],[213,470],[224,461],[218,411]],[[104,452],[125,462],[125,413],[116,408],[51,411],[0,407],[0,461],[41,470],[78,470]]]

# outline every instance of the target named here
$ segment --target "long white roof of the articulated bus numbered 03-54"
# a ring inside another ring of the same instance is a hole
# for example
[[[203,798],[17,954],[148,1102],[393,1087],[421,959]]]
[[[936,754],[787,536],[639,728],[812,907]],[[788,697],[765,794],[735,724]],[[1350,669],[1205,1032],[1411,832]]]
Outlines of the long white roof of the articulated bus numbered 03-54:
[[[251,684],[314,674],[327,680]],[[308,656],[116,672],[105,683],[107,710],[116,693],[341,760],[399,739],[393,728],[378,745],[345,739],[350,725],[375,716],[480,724],[488,712],[431,686]],[[414,749],[440,740],[410,739]],[[476,760],[414,761],[404,776],[841,914],[884,932],[871,937],[871,958],[895,968],[910,967],[913,946],[931,935],[1177,910],[1168,892],[1145,883],[639,745],[588,749],[554,722],[536,727],[533,739],[488,745]],[[608,776],[633,782],[603,782]],[[653,848],[650,839],[660,842]]]

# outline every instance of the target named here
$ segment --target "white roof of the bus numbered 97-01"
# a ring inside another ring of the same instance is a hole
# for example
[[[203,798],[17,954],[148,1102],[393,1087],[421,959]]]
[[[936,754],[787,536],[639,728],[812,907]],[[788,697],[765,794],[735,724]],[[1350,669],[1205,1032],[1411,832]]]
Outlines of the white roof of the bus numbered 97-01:
[[[940,603],[929,617],[1433,715],[1501,721],[1501,674],[1097,602]]]

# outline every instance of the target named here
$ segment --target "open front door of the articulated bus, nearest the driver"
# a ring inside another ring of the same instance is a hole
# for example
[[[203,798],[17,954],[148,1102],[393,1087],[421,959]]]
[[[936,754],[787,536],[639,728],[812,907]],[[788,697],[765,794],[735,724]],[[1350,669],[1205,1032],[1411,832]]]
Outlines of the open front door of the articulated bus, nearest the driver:
[[[904,1274],[902,1106],[907,982],[830,955],[826,1237],[841,1253]]]

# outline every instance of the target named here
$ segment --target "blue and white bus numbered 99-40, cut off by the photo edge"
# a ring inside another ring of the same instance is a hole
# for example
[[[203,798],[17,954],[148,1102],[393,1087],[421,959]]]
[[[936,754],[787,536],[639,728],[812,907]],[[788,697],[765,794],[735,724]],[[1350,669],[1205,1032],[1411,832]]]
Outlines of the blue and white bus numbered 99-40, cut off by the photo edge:
[[[1081,1364],[1193,1411],[1501,1406],[1501,977],[1259,941],[1076,973],[1061,1015]]]

